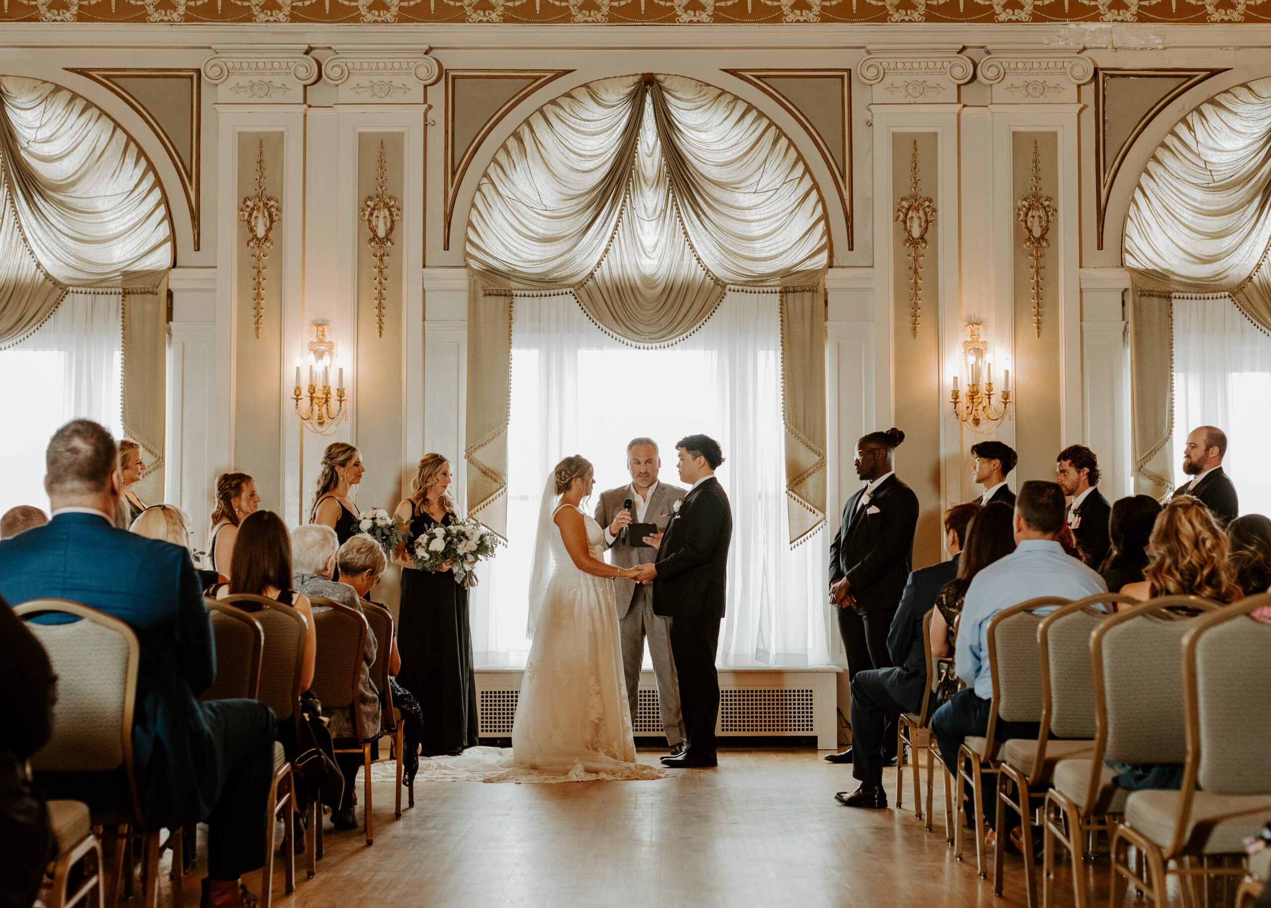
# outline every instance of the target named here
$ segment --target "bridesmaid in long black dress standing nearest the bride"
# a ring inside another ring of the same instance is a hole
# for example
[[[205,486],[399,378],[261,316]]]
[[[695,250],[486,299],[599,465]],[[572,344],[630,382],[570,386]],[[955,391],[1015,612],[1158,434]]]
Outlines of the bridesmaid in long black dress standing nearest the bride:
[[[440,454],[419,460],[411,497],[397,516],[411,524],[411,539],[437,524],[455,520],[455,502],[446,493],[450,462]],[[398,683],[414,694],[423,712],[425,757],[456,754],[477,745],[477,677],[473,636],[468,623],[468,590],[449,567],[436,574],[412,567],[405,543],[394,561],[402,566],[402,608],[398,617]]]

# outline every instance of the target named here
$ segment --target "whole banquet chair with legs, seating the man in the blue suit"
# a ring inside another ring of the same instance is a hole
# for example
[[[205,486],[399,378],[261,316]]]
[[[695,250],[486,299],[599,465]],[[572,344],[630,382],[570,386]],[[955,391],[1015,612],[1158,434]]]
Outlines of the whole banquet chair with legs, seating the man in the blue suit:
[[[14,607],[48,652],[57,675],[53,734],[31,758],[38,777],[61,773],[94,781],[100,801],[89,805],[92,825],[116,827],[114,875],[109,904],[119,900],[119,886],[132,879],[132,839],[141,838],[146,880],[146,908],[158,903],[159,830],[147,830],[141,813],[132,757],[132,712],[136,702],[141,645],[118,618],[64,599],[36,599]],[[61,613],[75,621],[39,624],[37,614]],[[122,776],[122,785],[118,785]],[[113,796],[112,796],[113,795]],[[70,828],[70,816],[67,829]],[[131,832],[130,832],[131,830]],[[180,830],[170,833],[179,837]],[[61,843],[58,843],[61,846]],[[179,852],[179,841],[178,851]],[[180,898],[179,863],[173,874],[173,902]]]

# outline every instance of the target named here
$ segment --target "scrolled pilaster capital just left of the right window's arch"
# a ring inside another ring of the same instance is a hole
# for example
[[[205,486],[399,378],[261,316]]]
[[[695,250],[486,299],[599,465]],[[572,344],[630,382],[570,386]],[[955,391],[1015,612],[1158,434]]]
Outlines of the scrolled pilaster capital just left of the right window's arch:
[[[1094,61],[1082,47],[994,46],[977,76],[993,86],[994,104],[1070,104],[1078,85],[1094,78]]]

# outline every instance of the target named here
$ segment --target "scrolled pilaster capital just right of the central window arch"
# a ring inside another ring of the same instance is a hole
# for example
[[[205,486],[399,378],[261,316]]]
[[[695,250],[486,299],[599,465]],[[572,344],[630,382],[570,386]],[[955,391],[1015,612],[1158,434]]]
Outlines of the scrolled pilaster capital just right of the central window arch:
[[[876,104],[957,103],[958,85],[971,81],[975,64],[962,45],[866,47],[857,75],[873,86]]]

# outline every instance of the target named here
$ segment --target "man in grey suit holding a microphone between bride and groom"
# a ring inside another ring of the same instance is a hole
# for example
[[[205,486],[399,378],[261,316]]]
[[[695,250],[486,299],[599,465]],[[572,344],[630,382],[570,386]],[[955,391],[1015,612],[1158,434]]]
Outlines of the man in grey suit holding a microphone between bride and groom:
[[[657,557],[657,549],[641,546],[639,539],[628,540],[625,526],[632,523],[657,524],[666,529],[674,514],[675,502],[684,500],[684,490],[658,482],[662,465],[657,443],[653,439],[632,439],[627,445],[627,469],[630,485],[610,488],[600,493],[596,504],[596,523],[605,528],[605,544],[613,553],[611,562],[619,567],[648,565]],[[627,502],[630,510],[627,510]],[[630,543],[637,544],[630,544]],[[653,675],[657,678],[657,699],[662,713],[662,730],[672,753],[684,750],[684,720],[680,716],[680,683],[671,657],[671,638],[667,619],[653,614],[653,588],[634,580],[614,580],[618,598],[618,619],[623,640],[623,669],[627,675],[627,698],[630,702],[632,722],[639,701],[639,671],[644,663],[644,638],[653,657]]]

